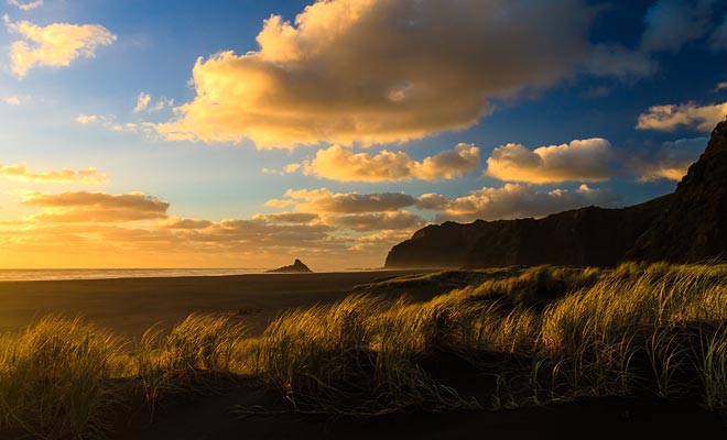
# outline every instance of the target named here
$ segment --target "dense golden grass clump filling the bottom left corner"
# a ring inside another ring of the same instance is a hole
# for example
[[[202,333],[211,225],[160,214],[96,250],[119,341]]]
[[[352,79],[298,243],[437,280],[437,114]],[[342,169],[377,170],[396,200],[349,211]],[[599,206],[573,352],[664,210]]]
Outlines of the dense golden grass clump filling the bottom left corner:
[[[102,437],[126,372],[123,342],[78,320],[47,317],[0,341],[0,427],[44,439]]]

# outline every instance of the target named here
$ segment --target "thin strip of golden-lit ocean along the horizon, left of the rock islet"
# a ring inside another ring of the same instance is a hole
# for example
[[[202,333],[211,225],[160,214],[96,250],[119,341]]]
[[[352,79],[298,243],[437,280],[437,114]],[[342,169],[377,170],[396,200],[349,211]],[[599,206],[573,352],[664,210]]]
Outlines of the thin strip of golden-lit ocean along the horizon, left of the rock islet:
[[[53,279],[155,278],[178,276],[225,276],[262,274],[264,268],[69,268],[0,270],[0,282]]]

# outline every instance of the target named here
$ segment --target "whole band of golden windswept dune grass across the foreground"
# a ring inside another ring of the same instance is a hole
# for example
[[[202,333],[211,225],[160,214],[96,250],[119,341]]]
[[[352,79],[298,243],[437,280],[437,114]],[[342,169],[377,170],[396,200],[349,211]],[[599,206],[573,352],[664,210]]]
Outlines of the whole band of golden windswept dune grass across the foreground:
[[[491,274],[424,302],[366,294],[289,310],[258,338],[231,317],[193,315],[131,346],[93,324],[46,318],[0,339],[0,433],[102,438],[112,406],[133,389],[154,408],[239,376],[259,378],[302,413],[497,409],[640,393],[727,410],[727,265]],[[504,361],[495,365],[493,354]],[[451,360],[459,370],[442,366]],[[493,369],[492,389],[479,398],[458,377]]]

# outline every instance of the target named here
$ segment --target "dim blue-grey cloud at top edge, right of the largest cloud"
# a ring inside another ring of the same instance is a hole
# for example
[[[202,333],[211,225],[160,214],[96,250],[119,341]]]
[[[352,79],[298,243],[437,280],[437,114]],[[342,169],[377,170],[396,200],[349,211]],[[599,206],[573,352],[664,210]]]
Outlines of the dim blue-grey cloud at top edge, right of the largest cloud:
[[[715,0],[659,0],[644,18],[641,48],[647,52],[677,52],[704,36]]]

